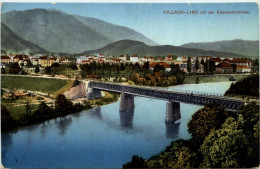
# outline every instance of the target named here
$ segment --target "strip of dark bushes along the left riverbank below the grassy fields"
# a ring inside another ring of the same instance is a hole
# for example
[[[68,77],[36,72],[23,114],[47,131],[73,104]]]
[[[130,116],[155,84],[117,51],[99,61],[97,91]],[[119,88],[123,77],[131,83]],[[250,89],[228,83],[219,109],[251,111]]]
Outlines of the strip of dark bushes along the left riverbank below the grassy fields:
[[[82,110],[115,102],[117,99],[117,93],[106,92],[105,96],[100,99],[84,101],[83,103],[72,103],[63,94],[59,94],[53,106],[48,106],[45,102],[42,102],[36,111],[31,111],[31,106],[27,104],[25,106],[26,113],[20,115],[18,119],[14,119],[9,110],[1,104],[1,131],[7,132],[53,118],[62,118]]]

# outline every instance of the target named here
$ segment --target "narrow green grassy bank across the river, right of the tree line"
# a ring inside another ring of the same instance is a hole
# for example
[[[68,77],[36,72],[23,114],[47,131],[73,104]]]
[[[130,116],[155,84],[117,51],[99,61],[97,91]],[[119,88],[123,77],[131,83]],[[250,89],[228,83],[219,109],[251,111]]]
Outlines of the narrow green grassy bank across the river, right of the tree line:
[[[233,75],[209,75],[199,76],[199,83],[211,83],[211,82],[227,82],[230,77],[235,77],[236,80],[243,79],[249,76],[248,74],[233,74]],[[196,84],[196,76],[186,76],[183,82],[184,84]]]

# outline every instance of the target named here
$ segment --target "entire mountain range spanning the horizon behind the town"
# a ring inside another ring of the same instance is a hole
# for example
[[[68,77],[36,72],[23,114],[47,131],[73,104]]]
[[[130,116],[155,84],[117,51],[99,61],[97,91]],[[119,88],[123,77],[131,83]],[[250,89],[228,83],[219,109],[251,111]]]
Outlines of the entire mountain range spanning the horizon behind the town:
[[[158,45],[141,33],[59,10],[31,9],[1,15],[1,48],[41,53],[259,57],[259,41],[230,40]]]

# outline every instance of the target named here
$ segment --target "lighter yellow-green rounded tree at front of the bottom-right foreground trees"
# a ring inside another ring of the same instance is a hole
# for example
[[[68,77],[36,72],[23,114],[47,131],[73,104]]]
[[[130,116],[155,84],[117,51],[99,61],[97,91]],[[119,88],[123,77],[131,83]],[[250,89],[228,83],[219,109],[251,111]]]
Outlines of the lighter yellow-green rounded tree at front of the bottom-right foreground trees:
[[[201,145],[206,168],[244,168],[247,139],[233,117],[227,118],[221,129],[212,131]]]

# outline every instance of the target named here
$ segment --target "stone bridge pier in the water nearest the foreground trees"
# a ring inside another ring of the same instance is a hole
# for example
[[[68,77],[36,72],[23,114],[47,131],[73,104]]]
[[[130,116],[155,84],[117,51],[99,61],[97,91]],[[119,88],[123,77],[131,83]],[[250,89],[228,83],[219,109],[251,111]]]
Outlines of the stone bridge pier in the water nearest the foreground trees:
[[[173,123],[181,118],[180,103],[168,102],[166,104],[166,123]]]

